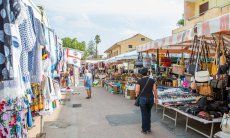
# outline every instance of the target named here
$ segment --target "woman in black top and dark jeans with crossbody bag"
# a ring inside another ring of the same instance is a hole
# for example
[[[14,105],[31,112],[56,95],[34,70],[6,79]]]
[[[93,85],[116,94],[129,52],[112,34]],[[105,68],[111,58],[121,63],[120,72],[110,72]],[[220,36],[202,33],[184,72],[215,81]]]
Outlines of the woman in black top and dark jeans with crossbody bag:
[[[151,133],[151,109],[156,93],[155,81],[149,77],[148,69],[143,68],[139,72],[142,78],[136,84],[136,96],[140,96],[140,109],[142,116],[142,133]]]

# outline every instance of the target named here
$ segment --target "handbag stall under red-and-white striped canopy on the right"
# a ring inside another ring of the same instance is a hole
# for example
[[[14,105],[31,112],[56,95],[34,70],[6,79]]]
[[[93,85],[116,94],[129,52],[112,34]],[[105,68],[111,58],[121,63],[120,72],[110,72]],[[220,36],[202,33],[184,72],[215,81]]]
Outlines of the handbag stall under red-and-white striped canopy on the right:
[[[172,87],[167,90],[162,90],[160,87],[154,96],[156,105],[163,107],[163,118],[172,119],[176,125],[177,114],[180,113],[186,116],[186,130],[190,128],[206,137],[213,136],[214,123],[227,119],[222,116],[229,112],[229,83],[227,83],[230,75],[229,16],[230,14],[226,14],[199,23],[194,28],[137,47],[138,52],[157,53],[157,57],[159,53],[190,54],[187,65],[185,62],[179,62],[176,68],[171,64],[169,56],[163,57],[163,63],[158,58],[158,66],[171,68],[171,73],[177,74],[175,75],[177,80],[172,80],[171,84],[168,84],[168,80],[161,81],[160,84],[172,86],[175,82],[174,87],[179,86],[183,89],[182,98],[180,98],[181,93]],[[187,90],[186,94],[184,91]],[[175,116],[167,115],[166,109],[174,111]],[[202,124],[211,124],[210,134],[204,134],[201,130],[188,125],[188,119],[197,120]]]

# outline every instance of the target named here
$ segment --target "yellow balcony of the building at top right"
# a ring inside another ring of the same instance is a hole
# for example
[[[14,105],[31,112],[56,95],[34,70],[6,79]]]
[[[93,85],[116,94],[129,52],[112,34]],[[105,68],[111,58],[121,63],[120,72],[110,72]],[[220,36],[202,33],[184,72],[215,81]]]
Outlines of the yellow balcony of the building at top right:
[[[194,16],[191,17],[187,20],[185,20],[185,26],[182,26],[180,28],[177,28],[172,31],[173,34],[179,33],[181,31],[187,30],[189,28],[192,28],[195,24],[199,22],[203,22],[224,14],[230,13],[230,4],[225,5],[223,7],[214,7],[206,11],[205,13],[199,15],[199,16]]]

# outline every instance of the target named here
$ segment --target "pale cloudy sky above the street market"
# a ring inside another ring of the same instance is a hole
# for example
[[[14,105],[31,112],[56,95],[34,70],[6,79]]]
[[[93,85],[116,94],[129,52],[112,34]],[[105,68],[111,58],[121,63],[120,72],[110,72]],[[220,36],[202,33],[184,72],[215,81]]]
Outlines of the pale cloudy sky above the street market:
[[[171,35],[184,0],[34,0],[42,5],[59,37],[79,41],[101,36],[99,53],[141,33],[153,40]]]

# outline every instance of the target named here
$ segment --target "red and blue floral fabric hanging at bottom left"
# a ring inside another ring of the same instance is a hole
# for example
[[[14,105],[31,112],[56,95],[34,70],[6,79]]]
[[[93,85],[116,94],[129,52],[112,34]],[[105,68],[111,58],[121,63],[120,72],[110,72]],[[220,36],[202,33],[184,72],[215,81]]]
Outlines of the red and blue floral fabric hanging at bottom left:
[[[25,98],[7,99],[0,101],[0,137],[22,138],[27,137],[26,117],[24,109],[28,102]]]

